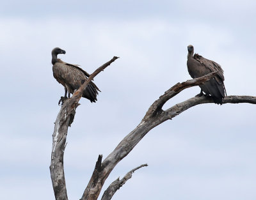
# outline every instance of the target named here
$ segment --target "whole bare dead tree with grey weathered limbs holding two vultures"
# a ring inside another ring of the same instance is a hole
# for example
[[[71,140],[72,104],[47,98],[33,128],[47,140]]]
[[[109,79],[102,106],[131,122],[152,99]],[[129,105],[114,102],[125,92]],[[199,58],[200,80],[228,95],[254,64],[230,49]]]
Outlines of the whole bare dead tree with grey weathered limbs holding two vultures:
[[[88,80],[79,88],[72,98],[65,101],[63,106],[58,113],[54,132],[52,134],[52,153],[51,153],[51,179],[52,187],[54,190],[55,198],[58,200],[68,200],[64,169],[63,169],[63,156],[65,151],[65,144],[67,138],[68,126],[71,125],[76,114],[76,108],[79,105],[78,102],[81,98],[83,90],[86,88],[88,83],[104,68],[113,63],[117,57],[114,57],[104,65],[100,66],[95,72],[90,75]],[[125,156],[127,156],[131,150],[140,142],[140,140],[154,127],[163,123],[168,119],[172,119],[179,115],[181,112],[186,111],[190,107],[198,104],[214,103],[211,96],[195,96],[179,104],[173,105],[165,111],[162,109],[163,105],[170,100],[173,96],[177,95],[183,89],[198,86],[203,84],[205,81],[211,79],[216,72],[209,73],[204,77],[197,79],[191,79],[186,82],[177,83],[172,88],[168,89],[162,96],[160,96],[148,109],[144,118],[140,124],[132,130],[131,133],[126,135],[124,139],[116,146],[115,150],[102,161],[102,155],[99,155],[95,165],[92,177],[84,190],[83,196],[80,200],[96,200],[99,197],[100,191],[104,182],[108,178],[111,171],[114,169],[116,164],[120,162]],[[223,104],[239,104],[249,103],[256,104],[256,96],[226,96],[223,98]],[[146,166],[147,164],[140,165],[140,167]],[[115,194],[116,190],[125,181],[131,178],[131,174],[140,167],[136,167],[127,173],[122,180],[115,180],[102,196],[102,200],[109,200]]]

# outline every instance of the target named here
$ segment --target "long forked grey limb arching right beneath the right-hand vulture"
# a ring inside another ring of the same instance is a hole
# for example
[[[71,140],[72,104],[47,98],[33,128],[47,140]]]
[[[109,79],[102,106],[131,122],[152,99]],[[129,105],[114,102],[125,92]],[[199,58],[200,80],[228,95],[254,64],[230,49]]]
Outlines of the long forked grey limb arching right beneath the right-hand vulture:
[[[189,107],[193,107],[198,104],[213,103],[211,97],[193,97],[185,102],[176,104],[170,109],[163,111],[163,105],[170,100],[173,96],[177,95],[183,89],[190,88],[192,86],[198,86],[205,81],[211,79],[216,72],[209,73],[204,77],[197,79],[191,79],[186,82],[177,83],[172,88],[168,89],[164,95],[160,96],[148,109],[141,123],[132,130],[130,134],[124,137],[124,139],[116,146],[115,150],[111,152],[108,157],[102,162],[100,171],[94,170],[92,178],[89,181],[86,189],[84,190],[81,200],[96,200],[102,189],[102,185],[108,178],[115,165],[126,157],[131,150],[140,142],[140,140],[154,127],[163,123],[168,119],[172,119],[178,114]],[[256,104],[255,96],[226,96],[223,100],[223,104],[237,104],[237,103],[249,103]]]

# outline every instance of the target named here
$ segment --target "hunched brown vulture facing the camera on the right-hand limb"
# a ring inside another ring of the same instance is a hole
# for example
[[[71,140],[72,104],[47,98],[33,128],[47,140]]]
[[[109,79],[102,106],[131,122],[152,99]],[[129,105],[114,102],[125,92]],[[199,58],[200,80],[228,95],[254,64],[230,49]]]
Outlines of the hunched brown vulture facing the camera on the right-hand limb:
[[[194,54],[193,45],[188,45],[187,66],[189,75],[191,75],[193,79],[218,71],[209,81],[199,85],[201,91],[196,96],[202,96],[205,93],[207,96],[212,96],[215,104],[222,104],[222,100],[225,95],[227,96],[227,93],[224,86],[224,75],[221,66],[214,61],[206,59],[198,54]]]

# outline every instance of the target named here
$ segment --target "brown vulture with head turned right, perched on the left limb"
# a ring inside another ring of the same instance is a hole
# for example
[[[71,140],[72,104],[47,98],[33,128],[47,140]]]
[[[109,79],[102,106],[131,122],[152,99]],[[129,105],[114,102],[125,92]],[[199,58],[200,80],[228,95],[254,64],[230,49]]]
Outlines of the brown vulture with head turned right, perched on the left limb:
[[[65,88],[64,98],[67,98],[67,95],[68,98],[70,98],[70,93],[73,94],[76,89],[79,89],[80,86],[88,79],[90,74],[80,68],[79,65],[65,63],[61,61],[61,59],[57,58],[58,54],[65,53],[65,50],[60,49],[59,47],[52,50],[52,72],[54,78]],[[98,91],[100,91],[99,88],[97,88],[97,86],[91,81],[86,89],[84,89],[82,96],[84,98],[88,98],[90,102],[96,102]]]

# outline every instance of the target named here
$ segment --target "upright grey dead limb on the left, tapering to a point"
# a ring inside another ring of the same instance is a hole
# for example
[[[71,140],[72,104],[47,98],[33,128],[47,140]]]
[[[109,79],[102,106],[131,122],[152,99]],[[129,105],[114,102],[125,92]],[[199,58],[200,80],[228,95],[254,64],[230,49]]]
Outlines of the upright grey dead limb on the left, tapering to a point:
[[[72,98],[66,100],[58,113],[55,121],[54,132],[52,134],[52,153],[51,153],[51,179],[54,190],[55,199],[67,200],[67,189],[65,183],[63,156],[65,151],[65,143],[67,138],[68,126],[71,125],[76,114],[78,102],[82,96],[83,90],[88,86],[88,83],[107,66],[113,63],[118,57],[114,57],[104,65],[100,66],[95,72],[90,75],[88,80],[72,95]],[[101,160],[100,160],[101,163]]]

